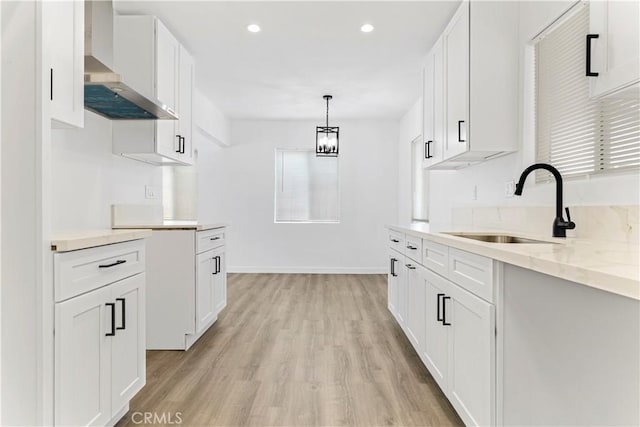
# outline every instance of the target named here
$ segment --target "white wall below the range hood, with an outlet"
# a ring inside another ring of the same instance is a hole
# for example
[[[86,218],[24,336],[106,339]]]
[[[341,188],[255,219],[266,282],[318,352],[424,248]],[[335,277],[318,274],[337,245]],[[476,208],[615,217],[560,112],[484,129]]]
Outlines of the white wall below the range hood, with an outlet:
[[[162,204],[162,169],[112,154],[111,124],[86,111],[84,129],[52,131],[54,231],[111,228],[112,204]]]

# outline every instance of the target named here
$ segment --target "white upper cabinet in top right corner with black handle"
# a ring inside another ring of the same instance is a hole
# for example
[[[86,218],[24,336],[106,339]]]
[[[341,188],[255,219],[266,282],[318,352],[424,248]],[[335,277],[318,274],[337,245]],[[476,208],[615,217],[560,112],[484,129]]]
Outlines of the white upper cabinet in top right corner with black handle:
[[[591,78],[591,96],[619,94],[621,90],[637,96],[640,87],[640,3],[592,1],[589,2],[589,15],[585,74]]]

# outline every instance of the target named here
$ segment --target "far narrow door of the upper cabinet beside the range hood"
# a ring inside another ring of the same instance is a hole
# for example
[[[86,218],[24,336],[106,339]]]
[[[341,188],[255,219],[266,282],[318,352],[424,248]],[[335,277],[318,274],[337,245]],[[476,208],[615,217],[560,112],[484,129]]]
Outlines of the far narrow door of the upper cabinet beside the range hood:
[[[182,137],[180,160],[193,163],[193,91],[195,87],[195,66],[187,50],[180,46],[180,99],[178,134]]]

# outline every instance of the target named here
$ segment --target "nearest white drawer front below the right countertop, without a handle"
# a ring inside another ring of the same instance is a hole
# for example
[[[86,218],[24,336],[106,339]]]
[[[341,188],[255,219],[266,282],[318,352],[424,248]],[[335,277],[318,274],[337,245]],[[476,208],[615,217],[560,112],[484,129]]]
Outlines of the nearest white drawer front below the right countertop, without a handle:
[[[493,302],[493,260],[449,248],[449,280],[480,298]]]

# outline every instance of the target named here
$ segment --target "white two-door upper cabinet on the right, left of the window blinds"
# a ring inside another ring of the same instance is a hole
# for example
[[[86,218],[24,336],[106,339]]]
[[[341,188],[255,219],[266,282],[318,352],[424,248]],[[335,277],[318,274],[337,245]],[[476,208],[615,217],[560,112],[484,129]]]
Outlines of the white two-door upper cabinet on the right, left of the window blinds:
[[[427,56],[425,167],[458,169],[517,150],[518,10],[463,1]]]

